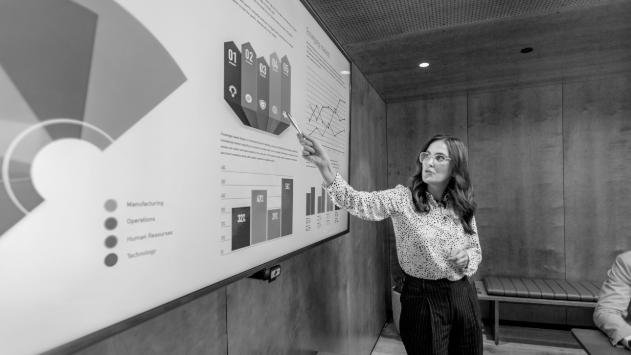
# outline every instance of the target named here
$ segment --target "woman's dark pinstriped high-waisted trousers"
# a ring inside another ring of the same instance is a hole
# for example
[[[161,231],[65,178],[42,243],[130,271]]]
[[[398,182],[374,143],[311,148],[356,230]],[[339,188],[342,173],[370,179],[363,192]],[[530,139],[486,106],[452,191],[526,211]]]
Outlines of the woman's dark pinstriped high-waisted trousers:
[[[405,275],[401,340],[408,355],[481,355],[480,307],[471,284]]]

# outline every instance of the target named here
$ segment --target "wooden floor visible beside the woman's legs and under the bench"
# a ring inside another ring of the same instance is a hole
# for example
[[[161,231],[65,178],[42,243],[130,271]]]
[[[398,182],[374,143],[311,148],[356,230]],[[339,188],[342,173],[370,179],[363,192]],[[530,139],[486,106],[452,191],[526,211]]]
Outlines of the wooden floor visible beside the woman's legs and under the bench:
[[[485,354],[512,354],[512,355],[557,355],[557,354],[586,354],[570,332],[562,330],[538,330],[534,328],[521,327],[501,327],[501,332],[507,335],[507,338],[514,341],[523,339],[523,342],[500,342],[495,345],[493,335],[490,334],[490,328],[484,327],[484,352]],[[546,336],[541,337],[539,333],[545,333]],[[520,338],[521,337],[521,338]],[[539,344],[525,344],[526,342]],[[543,345],[542,345],[543,344]],[[551,346],[557,344],[561,346]],[[394,327],[394,323],[387,323],[381,332],[379,340],[372,351],[372,355],[407,355],[401,337]]]

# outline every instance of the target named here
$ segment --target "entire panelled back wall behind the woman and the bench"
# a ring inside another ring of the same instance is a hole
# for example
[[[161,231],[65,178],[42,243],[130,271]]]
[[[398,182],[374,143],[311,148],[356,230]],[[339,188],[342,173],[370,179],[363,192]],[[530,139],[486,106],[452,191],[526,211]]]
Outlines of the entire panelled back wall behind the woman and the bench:
[[[478,203],[474,279],[602,282],[631,249],[629,92],[620,77],[388,104],[388,186],[408,184],[428,138],[454,135],[468,145]],[[505,304],[500,316],[593,325],[574,308]]]

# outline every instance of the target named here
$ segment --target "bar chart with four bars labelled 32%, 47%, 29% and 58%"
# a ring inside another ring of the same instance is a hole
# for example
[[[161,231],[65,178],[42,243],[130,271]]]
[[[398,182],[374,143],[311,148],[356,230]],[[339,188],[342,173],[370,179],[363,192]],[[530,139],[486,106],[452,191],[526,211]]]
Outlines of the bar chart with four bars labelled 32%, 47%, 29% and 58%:
[[[292,176],[221,173],[221,255],[293,234]]]

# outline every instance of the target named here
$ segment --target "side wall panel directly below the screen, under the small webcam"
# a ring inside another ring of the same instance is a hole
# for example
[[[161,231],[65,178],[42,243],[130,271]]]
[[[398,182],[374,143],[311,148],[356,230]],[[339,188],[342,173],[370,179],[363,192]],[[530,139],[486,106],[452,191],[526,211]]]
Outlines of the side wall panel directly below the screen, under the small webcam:
[[[227,286],[230,354],[348,354],[343,238],[280,263],[273,282]]]

